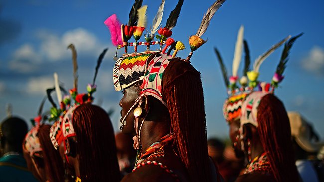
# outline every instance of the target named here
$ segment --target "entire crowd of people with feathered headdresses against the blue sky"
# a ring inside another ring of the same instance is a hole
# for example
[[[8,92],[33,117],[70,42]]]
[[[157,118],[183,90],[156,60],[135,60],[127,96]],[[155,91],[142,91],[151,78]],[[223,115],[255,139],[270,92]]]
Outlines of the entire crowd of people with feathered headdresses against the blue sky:
[[[135,0],[127,25],[120,24],[115,14],[107,18],[104,23],[116,46],[112,84],[123,93],[121,133],[116,135],[109,114],[92,104],[107,49],[98,58],[87,93],[79,93],[76,48],[69,45],[74,76],[69,93],[54,73],[55,88],[44,88],[47,96],[29,131],[19,117],[9,116],[1,122],[0,182],[323,182],[318,135],[299,113],[287,113],[274,94],[284,78],[290,49],[302,34],[272,46],[251,69],[241,26],[231,76],[215,48],[228,93],[223,114],[230,142],[207,140],[204,100],[208,98],[204,97],[201,73],[190,59],[206,42],[201,36],[224,1],[214,2],[203,16],[197,33],[189,38],[191,52],[186,59],[176,56],[184,49],[183,43],[171,38],[183,0],[178,1],[164,28],[160,27],[162,0],[144,35],[146,42],[138,42],[146,27],[147,6],[142,0]],[[159,35],[154,36],[156,32]],[[135,42],[128,42],[132,36]],[[146,51],[137,52],[141,45]],[[160,49],[150,50],[155,45]],[[284,48],[274,76],[270,82],[260,81],[260,65],[281,45]],[[117,50],[122,48],[125,54],[117,58]],[[243,52],[245,65],[239,78]],[[52,107],[50,113],[43,113],[47,100]]]

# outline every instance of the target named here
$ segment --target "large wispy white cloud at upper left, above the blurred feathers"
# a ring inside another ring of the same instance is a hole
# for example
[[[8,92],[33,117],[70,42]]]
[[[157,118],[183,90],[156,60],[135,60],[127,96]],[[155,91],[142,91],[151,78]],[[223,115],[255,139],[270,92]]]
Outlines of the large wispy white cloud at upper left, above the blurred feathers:
[[[21,45],[12,54],[9,68],[20,73],[31,73],[39,68],[41,63],[62,61],[71,58],[71,51],[67,46],[73,43],[78,56],[97,57],[105,47],[91,32],[77,28],[63,33],[61,36],[46,30],[37,32],[39,45],[30,43]],[[111,51],[108,54],[113,54]],[[106,55],[108,56],[108,55]]]

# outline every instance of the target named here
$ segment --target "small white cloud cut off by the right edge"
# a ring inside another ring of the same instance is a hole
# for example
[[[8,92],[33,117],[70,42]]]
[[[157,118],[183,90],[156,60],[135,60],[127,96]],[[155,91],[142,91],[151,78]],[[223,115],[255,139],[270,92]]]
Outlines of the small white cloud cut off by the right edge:
[[[324,49],[314,46],[307,57],[302,60],[302,67],[312,73],[323,75],[324,74]]]

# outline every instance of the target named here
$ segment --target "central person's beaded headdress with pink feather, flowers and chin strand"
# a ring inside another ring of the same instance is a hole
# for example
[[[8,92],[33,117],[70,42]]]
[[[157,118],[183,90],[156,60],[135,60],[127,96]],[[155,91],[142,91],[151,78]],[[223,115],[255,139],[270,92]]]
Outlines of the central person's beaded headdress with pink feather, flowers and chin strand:
[[[203,45],[205,40],[200,38],[207,30],[210,20],[216,13],[216,11],[222,6],[222,4],[225,2],[225,0],[217,0],[214,2],[207,10],[206,14],[204,15],[201,25],[196,33],[196,35],[192,35],[189,38],[189,44],[191,52],[188,55],[187,59],[183,61],[190,62],[190,58],[193,54],[193,51],[197,50],[201,45]],[[128,22],[128,25],[123,25],[119,22],[117,19],[116,14],[113,14],[109,18],[106,19],[104,24],[109,28],[109,31],[111,33],[111,39],[114,46],[116,46],[116,54],[114,57],[114,60],[117,60],[113,69],[113,82],[115,86],[116,91],[120,91],[122,89],[125,89],[131,85],[133,85],[135,82],[143,80],[142,84],[142,92],[141,96],[136,100],[136,102],[133,104],[133,106],[129,109],[127,114],[122,119],[121,123],[121,129],[123,128],[125,123],[125,119],[130,113],[132,109],[134,109],[135,105],[138,104],[139,100],[142,98],[143,95],[151,95],[155,98],[159,99],[165,106],[166,103],[162,99],[161,94],[161,88],[162,88],[162,75],[167,67],[168,63],[172,61],[172,58],[174,58],[179,50],[185,49],[185,46],[180,41],[175,41],[172,36],[172,28],[175,27],[177,23],[177,19],[179,17],[181,7],[183,5],[183,0],[179,0],[178,4],[176,5],[175,9],[170,13],[169,18],[166,21],[166,25],[164,28],[160,28],[160,23],[162,21],[163,11],[164,11],[164,4],[165,0],[162,0],[158,12],[153,20],[153,25],[150,29],[150,33],[145,34],[145,40],[144,42],[137,42],[140,37],[142,36],[143,31],[145,30],[146,26],[146,9],[147,6],[142,6],[142,0],[135,0],[133,7],[130,12],[130,19]],[[142,6],[142,7],[141,7]],[[137,22],[137,25],[135,26],[135,23]],[[119,28],[121,27],[121,28]],[[154,36],[154,34],[158,32],[159,35]],[[135,43],[128,43],[127,41],[134,36]],[[154,41],[154,37],[156,37],[158,40]],[[151,42],[152,41],[152,42]],[[160,44],[159,51],[149,51],[150,45]],[[122,45],[121,45],[122,44]],[[162,49],[163,44],[165,44],[165,47]],[[125,55],[121,58],[117,58],[117,50],[119,48],[124,47],[125,53],[127,53],[127,46],[133,46],[134,45],[134,52],[133,54]],[[136,53],[137,52],[137,46],[139,45],[146,45],[147,46],[147,52],[143,53]],[[170,47],[170,49],[166,52],[167,48]],[[170,53],[172,50],[175,50],[172,56],[170,56]],[[155,54],[154,54],[155,53]],[[162,53],[162,54],[161,54]],[[142,56],[144,54],[150,54],[147,57],[139,58],[139,56]],[[149,56],[153,56],[153,59],[148,59]],[[135,58],[135,59],[134,59]],[[127,65],[125,68],[122,67],[122,64],[124,63],[124,60],[126,63],[128,63],[128,59],[133,60],[132,65]],[[134,64],[137,63],[137,64]],[[144,67],[143,67],[144,65]],[[142,75],[142,70],[145,71],[145,73]],[[135,74],[135,76],[133,76]]]

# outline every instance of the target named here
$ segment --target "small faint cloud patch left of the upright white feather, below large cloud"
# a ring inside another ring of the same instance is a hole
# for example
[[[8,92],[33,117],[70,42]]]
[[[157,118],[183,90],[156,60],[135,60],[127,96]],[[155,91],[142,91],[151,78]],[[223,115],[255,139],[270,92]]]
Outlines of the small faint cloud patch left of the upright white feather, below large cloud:
[[[27,93],[45,95],[45,90],[54,85],[53,76],[32,77],[27,82]]]

